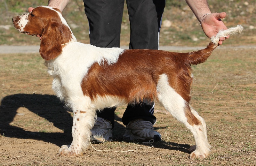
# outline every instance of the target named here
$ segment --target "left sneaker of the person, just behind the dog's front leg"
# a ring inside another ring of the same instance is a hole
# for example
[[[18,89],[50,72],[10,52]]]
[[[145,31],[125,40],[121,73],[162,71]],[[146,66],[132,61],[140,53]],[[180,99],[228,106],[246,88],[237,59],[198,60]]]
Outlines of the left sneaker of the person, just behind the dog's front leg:
[[[91,142],[93,143],[103,143],[105,141],[112,141],[112,124],[110,121],[97,117],[97,121],[95,122],[91,132],[92,135],[90,137]]]

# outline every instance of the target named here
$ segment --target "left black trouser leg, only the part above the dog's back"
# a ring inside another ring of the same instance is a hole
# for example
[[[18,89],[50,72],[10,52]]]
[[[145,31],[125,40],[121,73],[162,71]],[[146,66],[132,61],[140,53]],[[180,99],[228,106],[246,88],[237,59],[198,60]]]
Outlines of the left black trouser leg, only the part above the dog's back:
[[[89,21],[90,44],[97,47],[120,47],[124,0],[83,0]]]

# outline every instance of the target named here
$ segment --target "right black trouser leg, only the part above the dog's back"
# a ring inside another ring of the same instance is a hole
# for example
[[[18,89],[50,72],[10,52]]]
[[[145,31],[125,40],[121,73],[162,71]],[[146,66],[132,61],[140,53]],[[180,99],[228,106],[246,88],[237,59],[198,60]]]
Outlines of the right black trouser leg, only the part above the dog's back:
[[[165,0],[127,0],[130,19],[129,49],[159,49]]]

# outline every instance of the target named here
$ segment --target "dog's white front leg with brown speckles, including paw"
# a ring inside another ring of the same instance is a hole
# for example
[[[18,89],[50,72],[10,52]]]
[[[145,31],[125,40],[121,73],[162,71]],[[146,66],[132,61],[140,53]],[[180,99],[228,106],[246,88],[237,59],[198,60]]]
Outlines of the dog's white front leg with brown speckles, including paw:
[[[95,109],[73,109],[72,143],[63,145],[59,154],[64,156],[81,156],[89,145],[90,130],[94,124]]]

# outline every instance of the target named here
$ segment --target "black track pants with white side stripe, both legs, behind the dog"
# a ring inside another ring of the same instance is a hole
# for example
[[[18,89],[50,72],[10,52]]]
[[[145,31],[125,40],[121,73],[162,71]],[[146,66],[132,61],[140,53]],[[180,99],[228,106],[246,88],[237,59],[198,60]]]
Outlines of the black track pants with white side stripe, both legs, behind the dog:
[[[98,47],[120,47],[124,0],[83,1],[90,27],[90,44]],[[165,0],[126,0],[126,4],[131,27],[129,49],[158,49]],[[105,108],[97,115],[114,125],[115,109],[116,107]],[[122,121],[127,125],[134,119],[143,118],[154,124],[156,117],[153,113],[154,102],[143,100],[136,105],[129,104]]]

